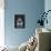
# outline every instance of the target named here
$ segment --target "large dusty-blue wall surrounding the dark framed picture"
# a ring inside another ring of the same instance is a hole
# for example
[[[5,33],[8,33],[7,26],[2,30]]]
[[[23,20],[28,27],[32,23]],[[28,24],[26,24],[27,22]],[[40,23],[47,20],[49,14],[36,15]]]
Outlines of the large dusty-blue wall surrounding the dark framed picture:
[[[6,0],[4,38],[8,45],[20,45],[34,34],[35,23],[44,10],[44,0]],[[26,28],[14,29],[14,14],[26,14]]]

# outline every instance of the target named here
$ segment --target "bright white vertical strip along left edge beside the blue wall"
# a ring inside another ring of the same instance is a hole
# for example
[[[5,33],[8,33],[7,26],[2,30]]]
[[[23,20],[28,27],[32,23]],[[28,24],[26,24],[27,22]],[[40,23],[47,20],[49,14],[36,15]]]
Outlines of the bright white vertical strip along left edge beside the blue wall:
[[[4,0],[0,0],[0,47],[4,45]]]

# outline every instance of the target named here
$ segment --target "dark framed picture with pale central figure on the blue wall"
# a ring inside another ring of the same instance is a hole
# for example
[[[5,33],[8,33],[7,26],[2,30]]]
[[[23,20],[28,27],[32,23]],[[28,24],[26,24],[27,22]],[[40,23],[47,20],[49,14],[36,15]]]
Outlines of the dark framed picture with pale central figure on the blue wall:
[[[14,14],[14,28],[24,28],[24,14]]]

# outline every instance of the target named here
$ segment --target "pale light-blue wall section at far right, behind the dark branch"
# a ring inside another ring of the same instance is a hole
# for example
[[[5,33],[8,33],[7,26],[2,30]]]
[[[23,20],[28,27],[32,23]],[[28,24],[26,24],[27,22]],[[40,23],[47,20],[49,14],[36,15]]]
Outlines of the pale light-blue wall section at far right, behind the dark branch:
[[[44,10],[45,10],[45,12],[48,10],[51,10],[51,0],[45,0],[44,1]],[[48,13],[47,19],[48,19],[48,24],[45,23],[44,28],[51,29],[51,11]]]

